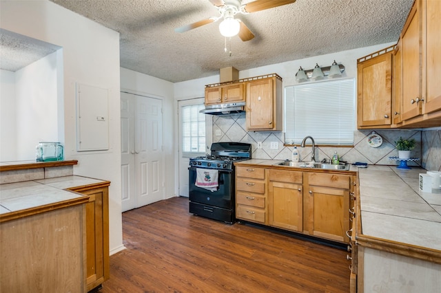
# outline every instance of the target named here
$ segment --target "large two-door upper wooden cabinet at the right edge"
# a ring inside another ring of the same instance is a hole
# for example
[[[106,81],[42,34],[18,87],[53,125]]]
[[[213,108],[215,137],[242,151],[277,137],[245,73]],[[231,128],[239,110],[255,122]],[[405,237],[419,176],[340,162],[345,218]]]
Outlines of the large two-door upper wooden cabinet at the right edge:
[[[401,33],[402,125],[441,124],[441,3],[416,0]]]

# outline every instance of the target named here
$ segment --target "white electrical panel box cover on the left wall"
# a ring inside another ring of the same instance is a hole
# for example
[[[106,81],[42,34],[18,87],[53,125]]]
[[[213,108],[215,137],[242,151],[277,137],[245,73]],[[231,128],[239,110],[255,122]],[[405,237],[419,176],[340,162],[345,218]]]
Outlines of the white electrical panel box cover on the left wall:
[[[109,149],[109,91],[76,84],[76,151]]]

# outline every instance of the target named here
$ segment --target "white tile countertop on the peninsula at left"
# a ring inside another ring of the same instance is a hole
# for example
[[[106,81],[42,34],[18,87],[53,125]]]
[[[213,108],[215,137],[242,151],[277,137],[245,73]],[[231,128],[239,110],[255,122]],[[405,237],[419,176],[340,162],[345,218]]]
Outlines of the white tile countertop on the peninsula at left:
[[[72,175],[0,184],[0,215],[78,199],[83,195],[65,189],[101,182],[103,180]]]

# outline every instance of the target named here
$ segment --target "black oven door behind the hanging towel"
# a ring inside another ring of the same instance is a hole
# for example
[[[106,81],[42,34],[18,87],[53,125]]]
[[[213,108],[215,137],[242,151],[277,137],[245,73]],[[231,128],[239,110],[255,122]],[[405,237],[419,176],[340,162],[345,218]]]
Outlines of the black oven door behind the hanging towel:
[[[189,167],[189,201],[231,210],[234,204],[234,176],[232,170],[218,170],[219,188],[208,191],[195,185],[196,167]]]

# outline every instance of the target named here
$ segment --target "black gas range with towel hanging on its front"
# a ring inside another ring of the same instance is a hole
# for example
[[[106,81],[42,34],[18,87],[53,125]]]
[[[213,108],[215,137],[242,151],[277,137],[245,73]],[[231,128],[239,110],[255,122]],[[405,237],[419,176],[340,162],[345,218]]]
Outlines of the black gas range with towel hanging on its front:
[[[189,162],[189,212],[232,224],[235,219],[234,162],[251,159],[251,144],[215,142],[211,153]]]

